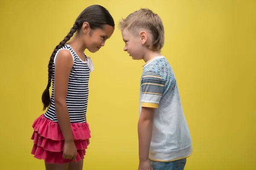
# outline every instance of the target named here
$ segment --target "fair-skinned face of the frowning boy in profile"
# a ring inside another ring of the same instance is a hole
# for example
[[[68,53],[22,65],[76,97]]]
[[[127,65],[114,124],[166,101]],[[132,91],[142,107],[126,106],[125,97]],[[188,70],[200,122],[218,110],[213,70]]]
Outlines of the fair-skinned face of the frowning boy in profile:
[[[122,30],[122,38],[125,42],[124,51],[126,51],[132,59],[143,59],[145,54],[145,48],[141,38],[135,33],[128,31],[127,29]]]

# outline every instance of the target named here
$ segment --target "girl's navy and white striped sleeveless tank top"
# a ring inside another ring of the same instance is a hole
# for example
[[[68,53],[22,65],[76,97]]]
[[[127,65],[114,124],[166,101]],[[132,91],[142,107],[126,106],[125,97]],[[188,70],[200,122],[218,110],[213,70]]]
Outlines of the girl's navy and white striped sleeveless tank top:
[[[70,47],[70,45],[64,45],[58,50],[69,50],[73,56],[73,68],[70,72],[68,90],[67,90],[67,108],[70,116],[71,123],[83,123],[86,122],[85,116],[87,111],[87,102],[88,102],[88,82],[90,77],[90,71],[87,65],[87,62],[82,61],[75,51]],[[56,53],[55,57],[57,56]],[[87,58],[84,55],[85,58]],[[55,112],[55,103],[54,103],[54,78],[55,78],[55,58],[52,64],[52,95],[51,103],[47,109],[44,116],[53,122],[58,122]]]

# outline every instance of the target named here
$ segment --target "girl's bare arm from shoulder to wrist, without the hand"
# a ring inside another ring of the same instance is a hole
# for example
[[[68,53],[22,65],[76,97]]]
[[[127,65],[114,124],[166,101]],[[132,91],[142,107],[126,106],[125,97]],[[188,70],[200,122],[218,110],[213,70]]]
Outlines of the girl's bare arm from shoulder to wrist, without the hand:
[[[58,124],[65,142],[73,142],[66,97],[73,57],[68,50],[59,51],[55,60],[54,102]]]

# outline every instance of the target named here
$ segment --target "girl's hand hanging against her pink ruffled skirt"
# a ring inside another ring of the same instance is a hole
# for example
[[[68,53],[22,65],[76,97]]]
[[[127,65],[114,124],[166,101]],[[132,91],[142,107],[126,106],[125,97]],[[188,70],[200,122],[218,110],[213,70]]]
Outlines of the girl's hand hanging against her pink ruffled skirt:
[[[72,161],[76,161],[77,149],[74,141],[64,142],[64,151],[63,158],[64,159],[72,159]]]

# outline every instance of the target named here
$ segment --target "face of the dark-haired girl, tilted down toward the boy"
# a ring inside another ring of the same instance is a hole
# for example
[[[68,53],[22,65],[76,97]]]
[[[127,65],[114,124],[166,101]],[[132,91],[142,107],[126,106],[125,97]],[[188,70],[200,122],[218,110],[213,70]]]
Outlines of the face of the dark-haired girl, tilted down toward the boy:
[[[83,25],[83,40],[86,48],[95,53],[105,45],[105,41],[108,40],[114,32],[114,28],[109,25],[103,26],[103,29],[97,28],[92,30],[89,25]]]

